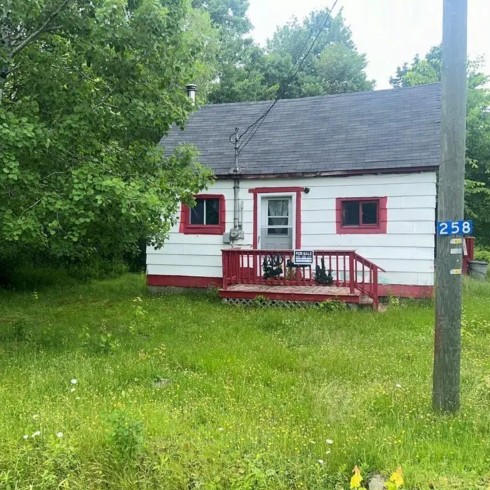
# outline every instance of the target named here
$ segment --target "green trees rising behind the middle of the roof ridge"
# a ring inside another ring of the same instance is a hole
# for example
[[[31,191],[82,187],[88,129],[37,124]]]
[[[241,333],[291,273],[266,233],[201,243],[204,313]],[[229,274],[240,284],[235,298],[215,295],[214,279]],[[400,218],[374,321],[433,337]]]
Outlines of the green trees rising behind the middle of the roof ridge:
[[[341,14],[330,18],[323,10],[312,12],[302,22],[294,19],[279,28],[262,48],[247,37],[251,29],[246,17],[247,0],[194,0],[194,5],[210,14],[220,32],[218,76],[209,94],[210,102],[295,98],[373,88],[374,83],[364,72],[365,56],[357,52]],[[305,57],[317,35],[311,53]]]

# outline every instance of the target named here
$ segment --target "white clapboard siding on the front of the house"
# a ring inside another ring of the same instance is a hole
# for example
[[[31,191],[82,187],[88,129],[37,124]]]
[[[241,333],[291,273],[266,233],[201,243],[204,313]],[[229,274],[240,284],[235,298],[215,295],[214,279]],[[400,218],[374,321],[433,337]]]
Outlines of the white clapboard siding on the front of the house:
[[[434,221],[436,175],[434,172],[308,179],[264,179],[240,182],[245,239],[253,242],[253,195],[256,187],[309,187],[301,196],[302,248],[356,250],[386,270],[385,284],[432,285],[434,281]],[[233,226],[233,181],[217,181],[202,194],[223,194],[226,231]],[[280,194],[277,194],[280,195]],[[387,197],[386,234],[339,235],[336,232],[336,198]],[[259,216],[260,219],[260,216]],[[221,236],[184,235],[173,226],[163,248],[148,247],[147,272],[154,275],[221,277],[221,250],[228,248]]]

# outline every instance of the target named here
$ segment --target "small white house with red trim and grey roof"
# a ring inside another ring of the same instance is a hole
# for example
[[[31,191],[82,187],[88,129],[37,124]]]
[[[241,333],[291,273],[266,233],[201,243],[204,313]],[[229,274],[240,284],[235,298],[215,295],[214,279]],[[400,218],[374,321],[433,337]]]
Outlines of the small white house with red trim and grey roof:
[[[204,106],[162,140],[168,151],[195,145],[216,182],[182,205],[162,249],[148,248],[148,285],[218,286],[227,298],[430,296],[440,86],[281,100],[259,119],[269,107]],[[236,162],[235,128],[258,119]]]

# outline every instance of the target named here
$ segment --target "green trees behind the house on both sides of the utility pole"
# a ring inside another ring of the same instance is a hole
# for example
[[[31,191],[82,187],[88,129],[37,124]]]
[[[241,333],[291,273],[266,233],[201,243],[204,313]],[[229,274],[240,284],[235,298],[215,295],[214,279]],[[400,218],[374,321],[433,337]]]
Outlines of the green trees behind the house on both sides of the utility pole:
[[[481,60],[468,62],[466,117],[466,214],[475,220],[476,237],[490,245],[490,91],[488,76],[481,72]],[[433,47],[424,58],[416,56],[409,65],[397,68],[390,79],[394,88],[441,80],[442,49]]]

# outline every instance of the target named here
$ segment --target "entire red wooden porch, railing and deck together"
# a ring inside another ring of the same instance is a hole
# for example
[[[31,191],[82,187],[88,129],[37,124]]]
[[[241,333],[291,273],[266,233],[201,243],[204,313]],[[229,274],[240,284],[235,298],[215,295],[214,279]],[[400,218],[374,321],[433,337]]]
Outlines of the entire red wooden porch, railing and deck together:
[[[293,250],[224,249],[223,299],[342,301],[377,308],[376,264],[353,250],[314,250],[311,263],[295,264]]]

